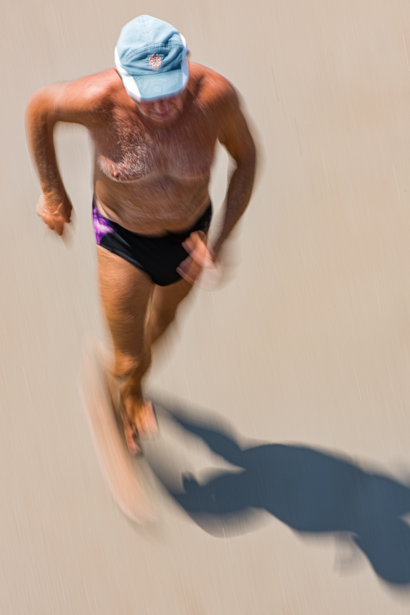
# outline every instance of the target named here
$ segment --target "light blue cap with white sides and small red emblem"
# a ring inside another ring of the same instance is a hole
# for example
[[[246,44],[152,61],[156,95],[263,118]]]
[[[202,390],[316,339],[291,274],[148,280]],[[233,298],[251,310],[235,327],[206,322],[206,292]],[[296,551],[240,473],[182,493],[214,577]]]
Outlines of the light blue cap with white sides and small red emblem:
[[[166,98],[188,83],[187,53],[184,36],[174,26],[140,15],[121,31],[115,67],[126,92],[137,102]]]

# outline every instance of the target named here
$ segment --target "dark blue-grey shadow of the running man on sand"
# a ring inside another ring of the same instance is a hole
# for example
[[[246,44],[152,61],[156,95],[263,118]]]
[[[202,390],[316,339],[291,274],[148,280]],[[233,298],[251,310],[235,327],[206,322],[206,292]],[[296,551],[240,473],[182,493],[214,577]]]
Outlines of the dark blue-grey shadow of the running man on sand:
[[[196,422],[185,412],[164,409],[237,466],[232,472],[214,469],[204,483],[182,474],[182,493],[153,468],[172,498],[205,531],[217,536],[223,536],[220,528],[244,533],[257,509],[266,510],[304,535],[346,536],[384,581],[410,584],[410,527],[402,518],[410,512],[408,486],[308,446],[244,445],[242,438],[239,444],[220,421]]]

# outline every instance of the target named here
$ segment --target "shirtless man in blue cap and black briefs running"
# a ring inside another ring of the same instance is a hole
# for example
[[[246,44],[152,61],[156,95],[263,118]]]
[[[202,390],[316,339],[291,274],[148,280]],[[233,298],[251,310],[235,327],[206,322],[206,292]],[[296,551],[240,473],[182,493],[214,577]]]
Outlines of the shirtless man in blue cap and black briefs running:
[[[87,127],[95,147],[93,218],[103,309],[114,342],[113,377],[131,454],[139,435],[157,431],[141,379],[151,345],[175,317],[202,268],[247,207],[255,146],[233,85],[187,61],[184,37],[141,15],[126,24],[115,68],[42,88],[26,125],[41,179],[37,213],[62,235],[72,205],[56,162],[53,127]],[[215,244],[208,185],[217,140],[236,162]]]

